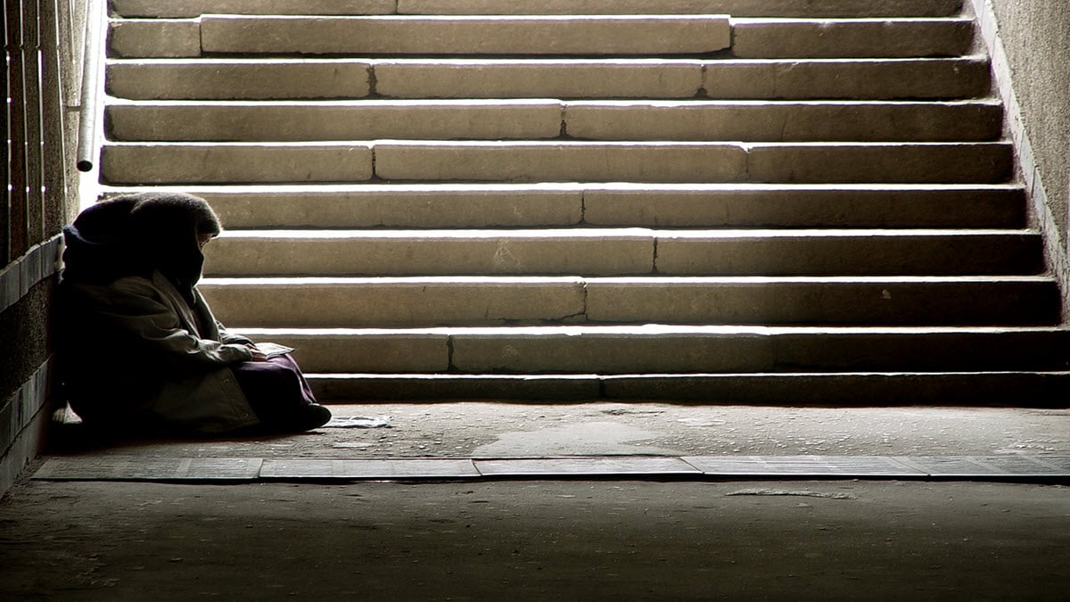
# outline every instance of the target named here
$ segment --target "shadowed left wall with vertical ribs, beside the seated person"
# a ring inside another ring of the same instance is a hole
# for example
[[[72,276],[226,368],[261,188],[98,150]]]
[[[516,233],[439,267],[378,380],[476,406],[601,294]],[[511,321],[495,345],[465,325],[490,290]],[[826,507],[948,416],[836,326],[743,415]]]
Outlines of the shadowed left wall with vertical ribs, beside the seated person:
[[[85,4],[4,4],[9,45],[0,206],[0,495],[33,458],[49,423],[49,314],[60,230],[78,209],[74,169]],[[40,66],[39,66],[40,65]]]

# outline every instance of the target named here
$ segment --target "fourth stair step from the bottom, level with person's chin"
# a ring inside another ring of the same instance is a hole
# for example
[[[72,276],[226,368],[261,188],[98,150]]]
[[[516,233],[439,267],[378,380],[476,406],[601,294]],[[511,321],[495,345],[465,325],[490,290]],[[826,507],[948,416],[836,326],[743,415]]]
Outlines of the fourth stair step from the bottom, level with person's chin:
[[[1043,270],[1014,230],[229,230],[208,275],[977,275]]]

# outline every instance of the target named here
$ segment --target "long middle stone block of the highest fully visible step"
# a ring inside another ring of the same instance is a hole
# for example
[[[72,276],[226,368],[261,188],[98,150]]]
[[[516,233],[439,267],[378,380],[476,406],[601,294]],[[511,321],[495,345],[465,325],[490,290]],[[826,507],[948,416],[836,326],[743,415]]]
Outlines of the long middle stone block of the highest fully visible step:
[[[200,36],[205,54],[686,55],[727,48],[730,27],[724,15],[205,15]]]

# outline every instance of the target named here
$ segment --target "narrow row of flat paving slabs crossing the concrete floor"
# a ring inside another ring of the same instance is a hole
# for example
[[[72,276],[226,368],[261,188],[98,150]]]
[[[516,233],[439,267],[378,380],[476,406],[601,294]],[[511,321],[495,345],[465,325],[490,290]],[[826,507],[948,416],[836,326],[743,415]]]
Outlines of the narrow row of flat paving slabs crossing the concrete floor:
[[[503,458],[138,458],[55,457],[45,481],[214,482],[441,479],[1070,479],[1070,456],[683,456]]]

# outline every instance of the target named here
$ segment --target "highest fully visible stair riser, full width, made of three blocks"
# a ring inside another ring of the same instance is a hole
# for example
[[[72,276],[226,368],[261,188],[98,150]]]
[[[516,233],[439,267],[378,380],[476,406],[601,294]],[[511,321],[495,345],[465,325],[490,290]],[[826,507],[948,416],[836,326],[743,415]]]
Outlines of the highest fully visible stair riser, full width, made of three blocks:
[[[731,30],[731,34],[730,34]],[[730,41],[731,35],[731,41]],[[952,57],[968,51],[968,19],[777,21],[725,17],[270,18],[207,16],[114,21],[112,57],[218,55],[705,55],[763,58]]]

